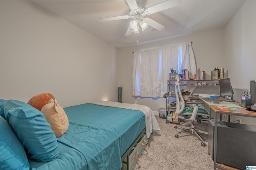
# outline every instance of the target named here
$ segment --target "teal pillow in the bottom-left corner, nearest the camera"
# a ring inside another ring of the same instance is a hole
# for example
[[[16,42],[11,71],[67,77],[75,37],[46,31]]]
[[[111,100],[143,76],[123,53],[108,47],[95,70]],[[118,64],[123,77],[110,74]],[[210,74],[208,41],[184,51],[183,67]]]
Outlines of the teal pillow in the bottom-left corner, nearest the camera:
[[[26,152],[7,121],[0,117],[0,169],[29,170]]]

